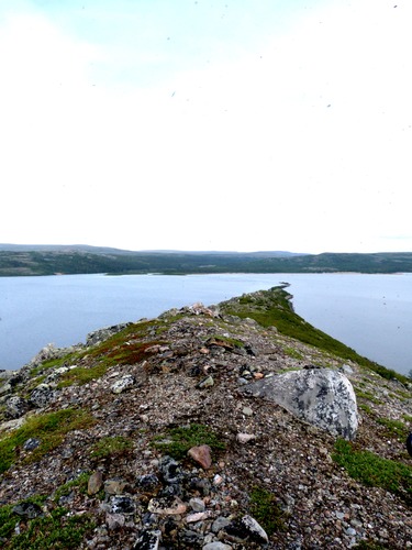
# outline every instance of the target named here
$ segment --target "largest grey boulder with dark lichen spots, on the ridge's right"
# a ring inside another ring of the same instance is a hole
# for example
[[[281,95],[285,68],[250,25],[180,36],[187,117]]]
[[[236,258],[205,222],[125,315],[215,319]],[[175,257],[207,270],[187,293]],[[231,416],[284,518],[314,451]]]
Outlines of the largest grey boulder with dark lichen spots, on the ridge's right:
[[[354,439],[356,396],[347,377],[331,369],[292,371],[249,384],[243,392],[264,397],[333,436]]]

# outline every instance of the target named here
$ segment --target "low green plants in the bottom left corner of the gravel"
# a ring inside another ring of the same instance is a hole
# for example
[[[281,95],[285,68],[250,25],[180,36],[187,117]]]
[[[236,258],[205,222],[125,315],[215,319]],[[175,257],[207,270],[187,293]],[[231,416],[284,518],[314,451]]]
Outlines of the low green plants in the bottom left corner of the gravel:
[[[25,501],[27,502],[27,501]],[[68,510],[57,507],[48,514],[21,522],[21,532],[14,532],[19,516],[13,506],[0,507],[0,540],[4,549],[13,550],[49,550],[80,548],[85,535],[93,529],[94,524],[89,516],[70,516]]]

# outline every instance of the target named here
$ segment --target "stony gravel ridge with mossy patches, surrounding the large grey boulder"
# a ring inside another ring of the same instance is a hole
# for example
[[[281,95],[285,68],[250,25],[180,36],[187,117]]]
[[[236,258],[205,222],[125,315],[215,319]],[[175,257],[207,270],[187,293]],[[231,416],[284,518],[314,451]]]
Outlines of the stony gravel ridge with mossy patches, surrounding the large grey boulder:
[[[412,548],[411,386],[236,317],[236,300],[0,373],[4,548]],[[352,442],[252,391],[314,369],[355,389]],[[401,465],[403,484],[350,476],[339,441]],[[57,517],[41,542],[36,526]]]

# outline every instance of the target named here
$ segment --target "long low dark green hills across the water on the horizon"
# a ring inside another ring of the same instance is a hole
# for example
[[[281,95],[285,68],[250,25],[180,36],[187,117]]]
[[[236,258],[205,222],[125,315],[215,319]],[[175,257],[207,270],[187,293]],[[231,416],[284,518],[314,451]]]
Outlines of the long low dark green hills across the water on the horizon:
[[[412,253],[133,252],[88,245],[0,244],[0,276],[338,272],[412,273]]]

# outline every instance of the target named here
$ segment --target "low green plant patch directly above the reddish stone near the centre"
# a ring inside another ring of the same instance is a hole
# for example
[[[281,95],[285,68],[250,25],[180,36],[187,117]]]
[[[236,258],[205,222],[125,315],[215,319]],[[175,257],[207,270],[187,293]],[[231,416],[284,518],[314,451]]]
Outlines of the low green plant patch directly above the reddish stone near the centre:
[[[190,448],[201,444],[208,444],[214,451],[225,449],[223,441],[210,428],[201,424],[171,428],[153,439],[154,447],[177,460],[183,459]]]

